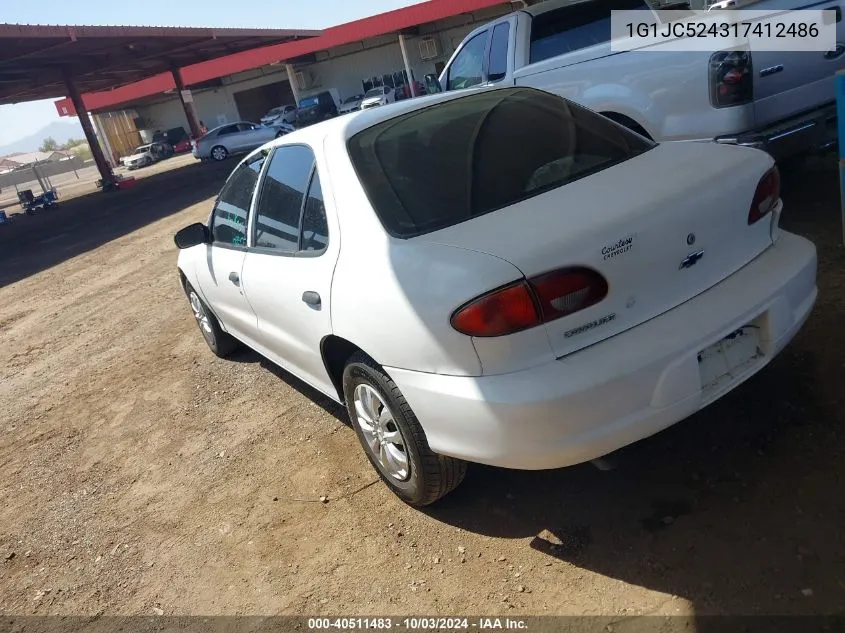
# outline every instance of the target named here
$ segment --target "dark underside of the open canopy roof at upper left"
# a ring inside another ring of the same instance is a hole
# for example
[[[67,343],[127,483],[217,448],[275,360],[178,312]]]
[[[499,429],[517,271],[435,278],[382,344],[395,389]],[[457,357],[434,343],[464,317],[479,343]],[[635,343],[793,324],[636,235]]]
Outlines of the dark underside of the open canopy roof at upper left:
[[[244,51],[314,38],[321,31],[0,24],[0,104],[134,84]]]

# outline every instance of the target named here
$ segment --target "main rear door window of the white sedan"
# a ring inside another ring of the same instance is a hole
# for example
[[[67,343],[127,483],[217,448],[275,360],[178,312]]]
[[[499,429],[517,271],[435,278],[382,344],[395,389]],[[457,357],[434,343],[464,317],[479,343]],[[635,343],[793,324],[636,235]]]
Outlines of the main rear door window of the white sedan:
[[[279,253],[299,250],[299,227],[314,153],[305,145],[279,147],[270,158],[255,218],[257,248]]]

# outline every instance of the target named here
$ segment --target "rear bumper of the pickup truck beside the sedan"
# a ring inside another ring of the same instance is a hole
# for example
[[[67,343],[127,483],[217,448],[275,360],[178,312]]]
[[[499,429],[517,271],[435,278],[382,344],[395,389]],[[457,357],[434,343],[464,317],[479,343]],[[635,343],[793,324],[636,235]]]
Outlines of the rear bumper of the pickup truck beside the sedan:
[[[715,140],[762,149],[775,159],[828,149],[837,140],[836,104],[826,104],[759,130],[720,136]]]

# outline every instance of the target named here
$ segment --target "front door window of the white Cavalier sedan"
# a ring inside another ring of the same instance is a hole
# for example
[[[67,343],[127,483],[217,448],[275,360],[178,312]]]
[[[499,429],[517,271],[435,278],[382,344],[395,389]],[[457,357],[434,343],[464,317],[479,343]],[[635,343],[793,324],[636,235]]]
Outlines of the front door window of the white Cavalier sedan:
[[[211,214],[211,235],[218,246],[246,246],[249,208],[264,159],[259,154],[241,163],[223,185]]]

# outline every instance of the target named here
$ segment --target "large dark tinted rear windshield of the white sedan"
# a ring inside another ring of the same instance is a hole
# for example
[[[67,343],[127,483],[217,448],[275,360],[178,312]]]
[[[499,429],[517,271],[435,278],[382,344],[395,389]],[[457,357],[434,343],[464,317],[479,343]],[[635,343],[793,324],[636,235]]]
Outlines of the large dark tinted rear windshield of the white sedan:
[[[439,103],[348,141],[382,224],[403,238],[513,205],[651,147],[586,108],[531,88]]]

